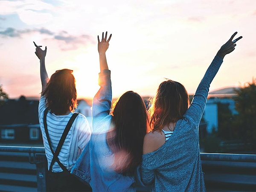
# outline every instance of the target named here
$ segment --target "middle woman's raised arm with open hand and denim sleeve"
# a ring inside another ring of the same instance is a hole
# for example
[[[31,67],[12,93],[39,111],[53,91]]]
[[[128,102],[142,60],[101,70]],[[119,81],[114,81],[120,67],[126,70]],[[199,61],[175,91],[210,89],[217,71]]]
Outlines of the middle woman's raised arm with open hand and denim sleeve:
[[[102,33],[102,40],[99,41],[98,36],[98,52],[99,52],[99,91],[93,98],[93,124],[99,122],[105,116],[109,115],[110,108],[112,104],[112,88],[111,88],[111,78],[110,70],[108,70],[108,63],[106,59],[106,51],[109,46],[109,41],[111,39],[109,36],[107,40],[107,32],[104,37]],[[93,128],[95,131],[95,128]]]

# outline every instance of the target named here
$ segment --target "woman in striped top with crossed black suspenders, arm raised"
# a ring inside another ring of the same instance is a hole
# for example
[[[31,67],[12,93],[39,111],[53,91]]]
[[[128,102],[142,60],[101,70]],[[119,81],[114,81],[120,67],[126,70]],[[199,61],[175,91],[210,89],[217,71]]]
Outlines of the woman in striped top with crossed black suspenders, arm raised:
[[[48,161],[47,191],[90,191],[90,186],[70,174],[91,135],[86,117],[73,113],[77,105],[73,70],[57,70],[48,79],[47,47],[45,50],[36,44],[35,47],[42,82],[38,114]]]

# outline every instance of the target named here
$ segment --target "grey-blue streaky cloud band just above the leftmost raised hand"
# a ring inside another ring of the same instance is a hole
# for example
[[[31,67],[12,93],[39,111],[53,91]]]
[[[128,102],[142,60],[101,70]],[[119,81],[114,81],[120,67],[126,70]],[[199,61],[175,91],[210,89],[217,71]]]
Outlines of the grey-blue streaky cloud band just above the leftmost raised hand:
[[[79,44],[84,45],[87,43],[94,43],[93,38],[90,35],[71,35],[67,31],[52,32],[45,28],[17,30],[9,27],[3,31],[0,31],[0,36],[3,36],[4,38],[22,38],[22,35],[35,32],[47,35],[49,36],[49,39],[60,42],[59,47],[63,51],[77,49]]]

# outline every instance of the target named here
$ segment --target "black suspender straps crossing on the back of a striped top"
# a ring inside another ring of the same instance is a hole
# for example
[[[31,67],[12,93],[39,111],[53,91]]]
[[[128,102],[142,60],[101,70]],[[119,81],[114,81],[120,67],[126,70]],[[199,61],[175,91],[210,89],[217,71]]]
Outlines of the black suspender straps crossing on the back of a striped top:
[[[50,150],[52,151],[52,155],[53,155],[53,158],[52,158],[52,162],[51,162],[49,171],[52,171],[52,166],[53,166],[53,164],[55,163],[55,161],[58,163],[58,165],[61,167],[61,169],[62,169],[63,171],[68,171],[67,168],[59,161],[59,159],[58,159],[58,154],[60,153],[61,147],[62,147],[62,145],[63,145],[63,143],[64,143],[64,140],[66,139],[67,134],[68,134],[68,132],[69,132],[69,130],[70,130],[70,128],[71,128],[71,126],[72,126],[74,120],[76,119],[76,117],[78,116],[79,113],[74,113],[74,114],[72,115],[72,117],[70,118],[70,120],[69,120],[69,122],[67,123],[67,126],[66,126],[66,128],[65,128],[65,130],[64,130],[64,132],[63,132],[63,134],[62,134],[62,136],[61,136],[61,139],[60,139],[60,141],[59,141],[59,143],[58,143],[58,146],[57,146],[57,148],[56,148],[56,150],[55,150],[55,152],[54,152],[53,149],[52,149],[52,144],[51,144],[51,140],[50,140],[50,137],[49,137],[49,132],[48,132],[48,129],[47,129],[46,116],[47,116],[48,110],[49,110],[49,109],[47,108],[47,109],[44,111],[44,130],[45,130],[45,134],[46,134],[46,137],[47,137],[47,140],[48,140],[48,143],[49,143],[49,148],[50,148]]]

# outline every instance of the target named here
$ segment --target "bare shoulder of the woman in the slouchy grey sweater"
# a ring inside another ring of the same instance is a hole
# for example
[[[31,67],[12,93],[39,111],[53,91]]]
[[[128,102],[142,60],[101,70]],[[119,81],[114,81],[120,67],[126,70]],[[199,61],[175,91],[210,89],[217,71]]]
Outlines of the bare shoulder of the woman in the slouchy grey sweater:
[[[165,136],[162,131],[151,131],[144,137],[143,154],[156,151],[165,143]]]

